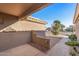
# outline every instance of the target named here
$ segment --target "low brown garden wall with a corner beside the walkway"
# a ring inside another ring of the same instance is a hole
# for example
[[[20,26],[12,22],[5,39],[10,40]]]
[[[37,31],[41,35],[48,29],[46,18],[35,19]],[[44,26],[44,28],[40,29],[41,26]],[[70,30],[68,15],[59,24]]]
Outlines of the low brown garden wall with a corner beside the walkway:
[[[42,35],[44,32],[40,33],[40,35],[37,33],[39,32],[32,31],[32,42],[46,49],[52,48],[60,39],[62,39],[61,37],[49,37]]]

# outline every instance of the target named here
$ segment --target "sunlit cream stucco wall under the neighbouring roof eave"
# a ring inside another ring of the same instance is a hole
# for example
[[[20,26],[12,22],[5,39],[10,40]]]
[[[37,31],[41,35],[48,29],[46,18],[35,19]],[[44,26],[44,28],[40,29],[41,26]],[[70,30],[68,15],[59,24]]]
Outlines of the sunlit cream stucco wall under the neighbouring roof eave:
[[[31,31],[31,30],[45,30],[45,25],[38,24],[26,20],[17,21],[9,26],[16,31]]]

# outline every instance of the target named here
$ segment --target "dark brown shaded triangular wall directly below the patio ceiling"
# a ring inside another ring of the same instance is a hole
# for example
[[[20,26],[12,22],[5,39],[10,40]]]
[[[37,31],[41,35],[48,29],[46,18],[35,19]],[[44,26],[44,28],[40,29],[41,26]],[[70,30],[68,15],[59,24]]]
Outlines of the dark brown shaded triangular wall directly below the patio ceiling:
[[[0,13],[0,32],[18,21],[17,17]]]

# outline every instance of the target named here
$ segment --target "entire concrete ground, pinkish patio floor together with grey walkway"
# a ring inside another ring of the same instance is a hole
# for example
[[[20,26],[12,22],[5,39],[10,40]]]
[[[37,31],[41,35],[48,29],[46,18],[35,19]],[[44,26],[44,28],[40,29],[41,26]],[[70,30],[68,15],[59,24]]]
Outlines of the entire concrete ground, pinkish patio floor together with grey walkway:
[[[69,47],[64,43],[68,38],[61,39],[54,47],[47,52],[42,52],[39,49],[29,45],[21,45],[16,48],[8,49],[0,52],[1,56],[69,56]]]

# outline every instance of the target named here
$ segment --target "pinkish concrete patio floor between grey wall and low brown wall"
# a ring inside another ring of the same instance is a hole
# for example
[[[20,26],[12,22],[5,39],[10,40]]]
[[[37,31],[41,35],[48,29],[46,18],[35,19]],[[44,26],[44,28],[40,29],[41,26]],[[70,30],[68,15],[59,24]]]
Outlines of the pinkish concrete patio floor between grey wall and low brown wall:
[[[21,45],[16,48],[8,49],[0,52],[1,56],[35,56],[35,55],[45,55],[40,50],[32,47],[29,44]]]

